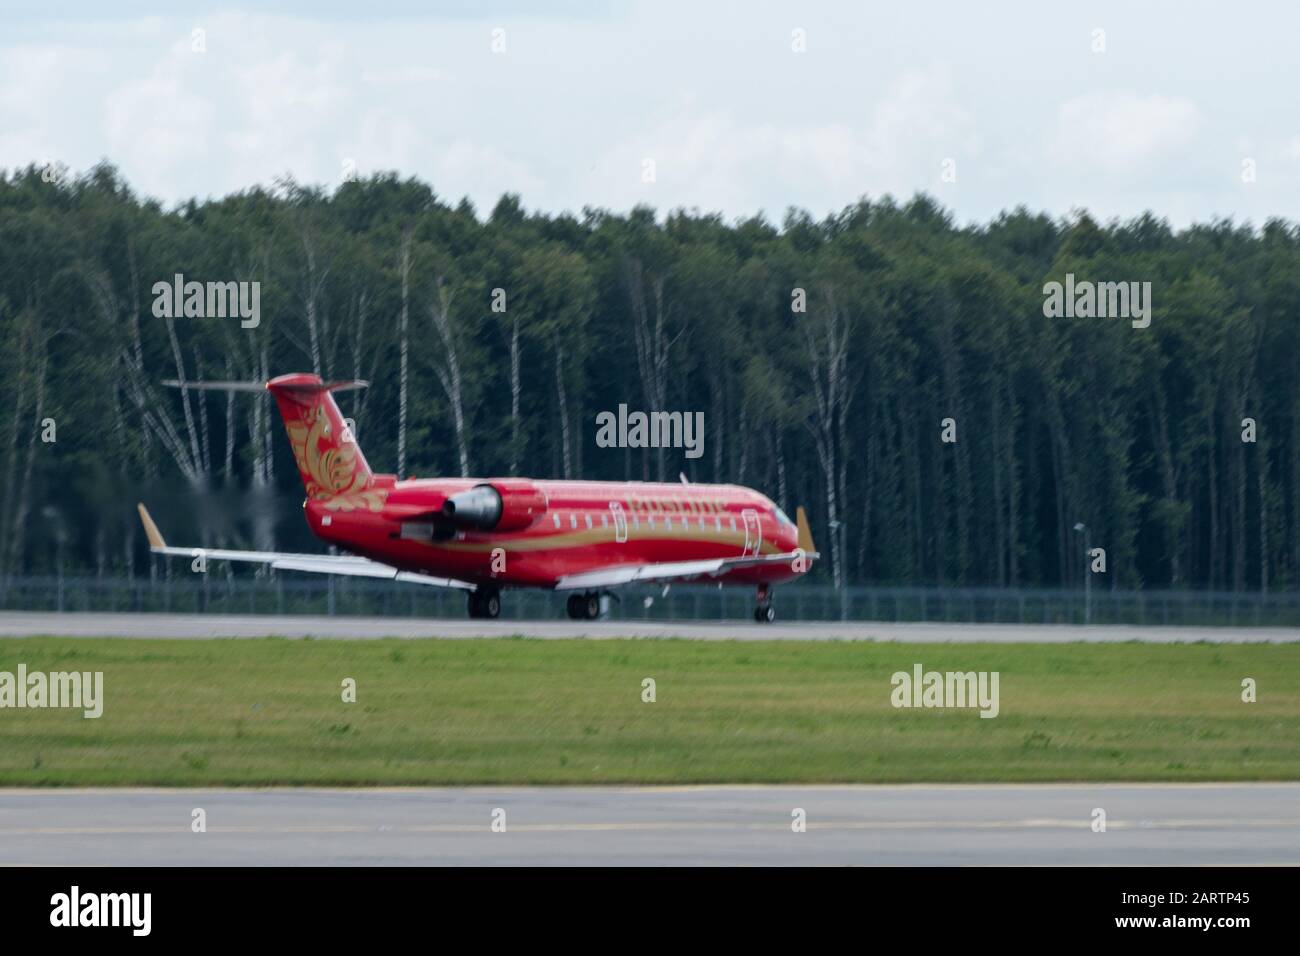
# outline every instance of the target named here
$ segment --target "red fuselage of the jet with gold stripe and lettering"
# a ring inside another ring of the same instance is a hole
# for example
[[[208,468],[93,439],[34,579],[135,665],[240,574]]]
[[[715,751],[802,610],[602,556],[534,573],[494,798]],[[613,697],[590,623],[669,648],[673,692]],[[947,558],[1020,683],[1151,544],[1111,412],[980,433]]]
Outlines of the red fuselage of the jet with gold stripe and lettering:
[[[443,514],[454,496],[493,488],[495,528]],[[374,476],[363,494],[308,499],[324,541],[404,571],[497,587],[555,587],[589,571],[662,562],[781,554],[796,525],[767,497],[738,485]],[[792,563],[736,567],[708,580],[776,584]]]

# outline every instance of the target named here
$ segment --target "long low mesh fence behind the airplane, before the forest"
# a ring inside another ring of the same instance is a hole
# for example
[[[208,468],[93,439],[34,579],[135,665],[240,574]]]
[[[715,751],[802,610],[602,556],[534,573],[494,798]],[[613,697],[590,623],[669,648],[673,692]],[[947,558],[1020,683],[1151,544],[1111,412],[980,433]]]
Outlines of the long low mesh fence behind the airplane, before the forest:
[[[502,618],[564,619],[564,593],[508,591]],[[989,624],[1300,627],[1297,592],[901,588],[793,584],[775,592],[779,620]],[[464,618],[459,591],[364,578],[56,578],[0,581],[0,609],[173,614],[328,614]],[[750,620],[749,588],[627,588],[615,620]]]

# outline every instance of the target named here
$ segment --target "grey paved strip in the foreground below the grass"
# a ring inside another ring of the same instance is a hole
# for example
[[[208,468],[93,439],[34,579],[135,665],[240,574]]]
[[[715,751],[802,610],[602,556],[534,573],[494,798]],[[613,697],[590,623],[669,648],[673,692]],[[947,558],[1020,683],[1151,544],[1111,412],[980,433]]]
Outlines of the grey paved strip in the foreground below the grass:
[[[0,791],[0,864],[1300,865],[1300,784]]]

